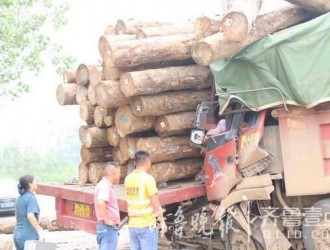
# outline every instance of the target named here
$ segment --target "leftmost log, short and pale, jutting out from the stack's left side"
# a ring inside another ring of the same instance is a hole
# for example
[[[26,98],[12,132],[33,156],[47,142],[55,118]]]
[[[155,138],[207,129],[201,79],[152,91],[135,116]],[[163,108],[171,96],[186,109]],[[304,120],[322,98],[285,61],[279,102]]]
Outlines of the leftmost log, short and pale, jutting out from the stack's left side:
[[[77,84],[62,83],[57,86],[56,99],[60,105],[76,105]]]

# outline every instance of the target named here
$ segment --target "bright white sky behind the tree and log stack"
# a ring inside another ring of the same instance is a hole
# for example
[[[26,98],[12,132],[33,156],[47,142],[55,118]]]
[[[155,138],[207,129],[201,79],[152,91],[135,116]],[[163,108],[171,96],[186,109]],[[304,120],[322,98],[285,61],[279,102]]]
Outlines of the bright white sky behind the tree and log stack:
[[[99,37],[105,27],[117,19],[135,18],[183,22],[202,15],[222,13],[220,0],[68,0],[68,24],[54,35],[63,45],[64,52],[80,63],[95,65],[100,62],[97,49]],[[271,1],[278,5],[280,1]],[[78,106],[59,106],[56,87],[62,77],[52,70],[44,69],[38,77],[30,77],[30,93],[15,102],[0,106],[0,146],[13,141],[40,150],[56,145],[59,137],[77,135],[83,124],[79,119]]]

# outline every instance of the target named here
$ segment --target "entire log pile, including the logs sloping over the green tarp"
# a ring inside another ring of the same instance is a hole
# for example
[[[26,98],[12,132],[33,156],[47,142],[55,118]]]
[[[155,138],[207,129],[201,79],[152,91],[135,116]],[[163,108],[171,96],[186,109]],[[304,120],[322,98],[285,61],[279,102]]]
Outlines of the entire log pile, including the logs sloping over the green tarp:
[[[151,154],[158,183],[193,177],[203,164],[189,141],[194,111],[214,100],[207,65],[315,16],[304,4],[259,15],[262,4],[230,1],[221,20],[200,17],[180,25],[118,20],[109,25],[99,39],[100,65],[81,64],[66,72],[57,89],[59,104],[79,104],[87,124],[79,130],[80,182],[95,184],[110,160],[121,165],[124,179],[134,168],[137,150]]]

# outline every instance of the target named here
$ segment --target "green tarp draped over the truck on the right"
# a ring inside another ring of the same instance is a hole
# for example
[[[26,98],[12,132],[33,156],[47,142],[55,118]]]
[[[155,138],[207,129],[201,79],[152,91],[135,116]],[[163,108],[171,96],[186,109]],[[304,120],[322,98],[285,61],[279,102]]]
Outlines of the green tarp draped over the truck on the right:
[[[268,35],[210,67],[220,113],[231,101],[255,111],[330,101],[330,13]]]

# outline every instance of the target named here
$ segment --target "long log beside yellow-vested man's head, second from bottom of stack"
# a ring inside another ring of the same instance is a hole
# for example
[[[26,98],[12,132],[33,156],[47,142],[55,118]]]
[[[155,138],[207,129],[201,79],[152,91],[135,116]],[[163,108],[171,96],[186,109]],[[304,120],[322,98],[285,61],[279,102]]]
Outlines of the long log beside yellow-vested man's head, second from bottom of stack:
[[[191,145],[189,136],[139,138],[136,150],[149,152],[152,162],[200,157],[199,150]]]

